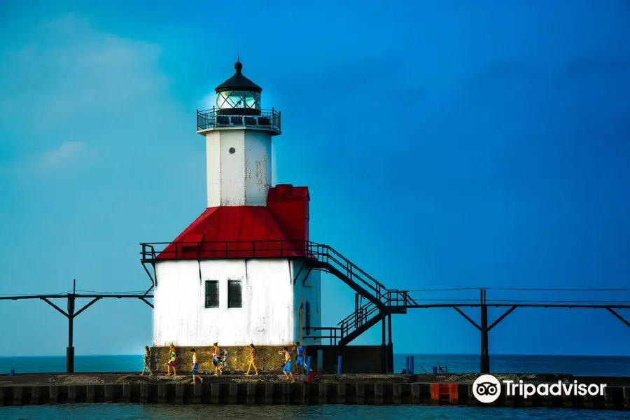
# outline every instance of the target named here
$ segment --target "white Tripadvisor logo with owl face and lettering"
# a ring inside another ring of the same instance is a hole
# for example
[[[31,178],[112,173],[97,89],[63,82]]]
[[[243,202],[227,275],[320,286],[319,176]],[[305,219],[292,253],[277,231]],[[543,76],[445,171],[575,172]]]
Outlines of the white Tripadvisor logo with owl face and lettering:
[[[606,384],[578,384],[577,381],[573,383],[563,383],[562,381],[554,382],[553,384],[525,384],[522,380],[515,381],[502,381],[505,389],[505,396],[519,395],[523,398],[528,398],[533,395],[540,395],[543,397],[554,395],[604,395],[604,388]],[[501,382],[493,377],[491,374],[482,374],[475,379],[472,383],[472,395],[475,395],[477,401],[484,404],[490,404],[498,400],[501,395]]]

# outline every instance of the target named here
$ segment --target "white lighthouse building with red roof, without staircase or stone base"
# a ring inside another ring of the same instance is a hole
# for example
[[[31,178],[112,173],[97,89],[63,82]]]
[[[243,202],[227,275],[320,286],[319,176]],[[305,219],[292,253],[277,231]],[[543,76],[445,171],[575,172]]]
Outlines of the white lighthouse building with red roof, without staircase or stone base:
[[[197,111],[207,209],[151,251],[156,347],[319,344],[303,339],[321,327],[320,274],[306,264],[308,188],[273,186],[280,112],[263,111],[262,88],[235,69],[213,109]]]

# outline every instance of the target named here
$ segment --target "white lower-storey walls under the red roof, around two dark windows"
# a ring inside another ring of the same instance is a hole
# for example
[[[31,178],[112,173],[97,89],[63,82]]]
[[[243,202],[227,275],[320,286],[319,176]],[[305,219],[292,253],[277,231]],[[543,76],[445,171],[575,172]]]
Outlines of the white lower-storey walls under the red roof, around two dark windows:
[[[297,263],[300,264],[299,262]],[[283,345],[300,338],[299,308],[311,304],[311,325],[321,325],[319,273],[293,285],[289,260],[165,261],[155,264],[153,345]],[[297,272],[296,272],[297,273]],[[307,273],[304,269],[301,276]],[[240,279],[242,308],[228,308],[228,279]],[[205,308],[205,281],[219,281],[219,307]],[[311,287],[309,287],[309,283]],[[297,309],[295,308],[296,302]]]

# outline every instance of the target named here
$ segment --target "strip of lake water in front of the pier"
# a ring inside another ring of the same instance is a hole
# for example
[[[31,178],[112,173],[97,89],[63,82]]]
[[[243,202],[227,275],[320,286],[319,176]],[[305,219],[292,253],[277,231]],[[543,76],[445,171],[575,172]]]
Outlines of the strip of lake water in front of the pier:
[[[255,406],[90,404],[55,407],[2,407],[3,420],[118,420],[118,419],[388,419],[388,420],[604,420],[628,419],[627,412],[547,408],[482,408],[430,406]]]

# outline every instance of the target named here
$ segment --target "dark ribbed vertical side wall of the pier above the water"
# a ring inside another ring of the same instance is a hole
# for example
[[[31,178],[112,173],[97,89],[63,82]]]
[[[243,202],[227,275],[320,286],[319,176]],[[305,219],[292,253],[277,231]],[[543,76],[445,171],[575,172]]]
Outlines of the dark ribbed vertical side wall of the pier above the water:
[[[102,402],[139,404],[248,405],[483,405],[472,384],[447,384],[448,394],[432,395],[440,384],[97,384],[2,386],[0,405],[57,405]],[[451,392],[454,392],[451,394]],[[502,395],[493,407],[571,407],[630,410],[630,387],[608,387],[602,397],[533,397]],[[445,398],[442,398],[445,397]]]

